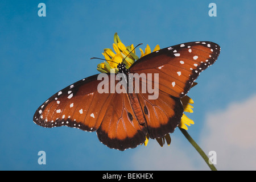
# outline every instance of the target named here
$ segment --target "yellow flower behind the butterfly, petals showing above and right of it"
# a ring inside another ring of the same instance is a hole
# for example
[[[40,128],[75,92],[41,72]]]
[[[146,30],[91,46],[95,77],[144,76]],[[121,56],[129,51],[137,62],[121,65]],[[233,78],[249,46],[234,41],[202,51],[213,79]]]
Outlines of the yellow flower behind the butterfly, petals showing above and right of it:
[[[139,57],[135,54],[135,49],[133,44],[131,44],[131,46],[126,47],[119,39],[119,36],[117,35],[117,33],[115,33],[114,35],[113,49],[115,53],[113,52],[112,49],[109,49],[109,48],[104,49],[104,52],[102,53],[102,55],[104,55],[106,61],[104,61],[104,63],[98,64],[97,66],[98,71],[102,73],[110,73],[111,69],[115,69],[115,73],[118,73],[118,69],[117,69],[118,63],[122,63],[123,61],[123,63],[125,63],[126,65],[126,69],[128,69],[135,62],[135,60],[139,59]],[[141,57],[151,53],[151,49],[150,49],[150,46],[148,46],[148,44],[144,52],[141,48],[139,49],[141,51]],[[159,45],[156,45],[153,52],[158,51],[159,49],[160,49]],[[195,86],[196,84],[197,83],[194,82],[193,86]],[[185,112],[193,113],[193,110],[192,110],[193,106],[190,104],[193,104],[194,102],[190,97],[184,96],[183,98],[181,98],[181,102],[183,104],[183,108]],[[181,121],[179,123],[179,127],[185,130],[188,130],[187,125],[190,126],[191,124],[194,124],[193,120],[189,119],[185,114],[183,114],[183,116],[181,117]],[[146,140],[144,142],[145,146],[147,146],[148,139],[149,139],[149,135],[146,134]],[[171,143],[170,134],[166,134],[163,138],[156,138],[156,140],[158,141],[161,147],[163,147],[165,142],[168,144],[168,146],[170,146],[170,143]]]

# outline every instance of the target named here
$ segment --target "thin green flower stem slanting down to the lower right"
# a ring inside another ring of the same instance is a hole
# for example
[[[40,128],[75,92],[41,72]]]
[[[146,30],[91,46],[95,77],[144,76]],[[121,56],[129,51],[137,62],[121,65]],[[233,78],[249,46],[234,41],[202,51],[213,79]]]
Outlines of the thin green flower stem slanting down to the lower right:
[[[204,159],[204,161],[207,163],[207,165],[209,166],[209,168],[212,171],[217,171],[217,169],[214,167],[213,164],[209,164],[209,159],[208,156],[204,153],[204,151],[199,147],[199,145],[195,142],[195,140],[193,140],[191,138],[191,136],[188,134],[188,132],[184,129],[181,129],[179,127],[180,131],[183,133],[183,135],[185,136],[185,138],[188,139],[188,141],[192,144],[192,146],[197,150],[197,152],[199,152],[199,154],[202,156],[202,158]]]

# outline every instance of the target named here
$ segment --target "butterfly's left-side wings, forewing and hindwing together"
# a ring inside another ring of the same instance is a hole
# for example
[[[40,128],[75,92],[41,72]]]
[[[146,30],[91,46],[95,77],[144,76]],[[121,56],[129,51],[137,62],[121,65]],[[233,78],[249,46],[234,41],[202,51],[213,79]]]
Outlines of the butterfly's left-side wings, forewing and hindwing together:
[[[98,93],[101,80],[97,80],[97,76],[80,80],[54,94],[36,110],[33,121],[43,127],[97,130],[100,141],[110,148],[137,147],[146,139],[146,127],[139,125],[128,95],[110,93],[118,81],[115,85],[110,82],[105,85],[109,93]]]

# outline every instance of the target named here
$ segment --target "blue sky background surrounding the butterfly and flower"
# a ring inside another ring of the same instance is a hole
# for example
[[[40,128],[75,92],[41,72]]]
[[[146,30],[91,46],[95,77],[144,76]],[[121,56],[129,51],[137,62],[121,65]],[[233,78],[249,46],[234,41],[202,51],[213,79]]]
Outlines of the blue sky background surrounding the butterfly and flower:
[[[38,16],[40,2],[46,4],[46,17]],[[208,15],[211,2],[217,5],[217,17]],[[194,113],[188,114],[195,125],[188,132],[200,144],[202,134],[208,132],[208,115],[250,101],[256,94],[255,6],[255,1],[231,0],[0,1],[0,169],[208,170],[179,130],[171,135],[171,146],[160,148],[150,140],[147,147],[121,152],[100,143],[96,133],[69,127],[46,129],[35,125],[32,117],[52,94],[98,73],[101,61],[90,57],[103,58],[103,49],[112,48],[115,32],[126,46],[143,43],[142,49],[146,44],[154,49],[156,44],[164,48],[212,41],[221,46],[221,54],[188,93],[195,101]],[[246,121],[240,121],[239,127]],[[212,124],[222,127],[221,122]],[[229,131],[224,138],[245,134]],[[46,165],[38,164],[41,150],[46,151]],[[167,155],[161,155],[163,151]],[[143,162],[152,165],[145,168]],[[218,160],[216,167],[238,169],[224,163],[229,162]]]

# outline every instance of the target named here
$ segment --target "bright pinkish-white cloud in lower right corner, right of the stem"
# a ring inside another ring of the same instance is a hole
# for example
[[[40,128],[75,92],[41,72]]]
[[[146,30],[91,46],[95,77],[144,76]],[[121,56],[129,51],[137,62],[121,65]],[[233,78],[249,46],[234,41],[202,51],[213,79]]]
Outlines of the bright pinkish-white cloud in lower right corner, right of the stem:
[[[201,146],[217,152],[217,169],[256,169],[256,96],[207,116]]]

